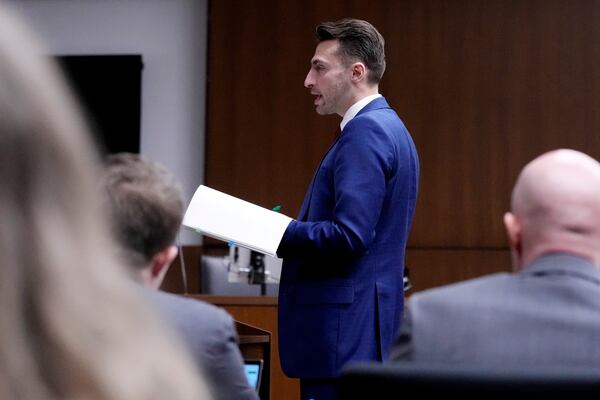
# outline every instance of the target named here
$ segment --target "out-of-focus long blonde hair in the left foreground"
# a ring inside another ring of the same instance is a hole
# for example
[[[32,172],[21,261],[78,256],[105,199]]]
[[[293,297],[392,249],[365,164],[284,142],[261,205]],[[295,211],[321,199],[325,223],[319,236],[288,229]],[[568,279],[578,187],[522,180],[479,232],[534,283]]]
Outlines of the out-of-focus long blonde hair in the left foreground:
[[[0,3],[0,398],[209,399],[126,277],[58,69]]]

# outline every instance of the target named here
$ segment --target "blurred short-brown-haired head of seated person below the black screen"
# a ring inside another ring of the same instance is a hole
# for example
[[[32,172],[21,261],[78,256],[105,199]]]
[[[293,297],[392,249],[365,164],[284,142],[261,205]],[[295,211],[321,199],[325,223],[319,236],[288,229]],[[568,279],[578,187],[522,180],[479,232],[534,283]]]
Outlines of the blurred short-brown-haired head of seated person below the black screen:
[[[105,160],[102,186],[125,263],[144,284],[160,287],[177,256],[174,243],[184,212],[179,183],[156,161],[118,153]]]

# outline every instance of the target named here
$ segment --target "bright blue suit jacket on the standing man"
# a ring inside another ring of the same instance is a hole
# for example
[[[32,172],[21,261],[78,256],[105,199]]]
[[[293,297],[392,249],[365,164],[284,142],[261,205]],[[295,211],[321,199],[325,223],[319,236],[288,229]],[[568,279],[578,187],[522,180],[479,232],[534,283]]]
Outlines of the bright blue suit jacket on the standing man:
[[[386,100],[344,127],[277,251],[279,352],[288,376],[339,376],[348,361],[388,357],[403,308],[415,208],[415,145]]]

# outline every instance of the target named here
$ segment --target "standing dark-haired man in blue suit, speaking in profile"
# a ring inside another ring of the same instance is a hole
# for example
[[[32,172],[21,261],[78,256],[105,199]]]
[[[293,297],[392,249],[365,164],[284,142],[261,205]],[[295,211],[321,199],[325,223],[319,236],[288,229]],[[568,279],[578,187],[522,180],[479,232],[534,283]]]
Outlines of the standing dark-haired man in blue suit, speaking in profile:
[[[368,22],[320,24],[304,81],[317,113],[343,117],[277,254],[279,351],[302,399],[335,399],[349,361],[388,357],[403,309],[419,160],[379,94],[384,40]]]

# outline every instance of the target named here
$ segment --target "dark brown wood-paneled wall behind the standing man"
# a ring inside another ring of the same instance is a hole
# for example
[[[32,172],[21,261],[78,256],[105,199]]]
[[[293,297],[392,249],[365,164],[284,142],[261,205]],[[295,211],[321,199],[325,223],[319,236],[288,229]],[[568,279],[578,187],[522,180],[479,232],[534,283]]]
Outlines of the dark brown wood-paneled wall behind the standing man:
[[[411,249],[494,258],[526,162],[557,147],[600,157],[599,1],[219,0],[209,15],[206,183],[265,207],[296,215],[339,122],[303,80],[315,25],[345,16],[386,38],[380,89],[421,158]],[[410,261],[440,274],[424,286],[469,275],[435,262]]]

